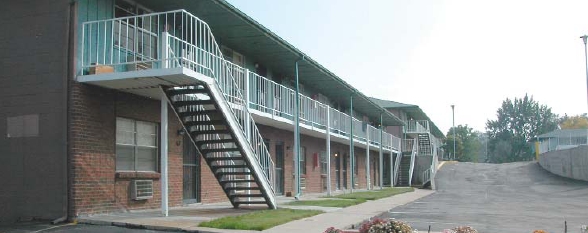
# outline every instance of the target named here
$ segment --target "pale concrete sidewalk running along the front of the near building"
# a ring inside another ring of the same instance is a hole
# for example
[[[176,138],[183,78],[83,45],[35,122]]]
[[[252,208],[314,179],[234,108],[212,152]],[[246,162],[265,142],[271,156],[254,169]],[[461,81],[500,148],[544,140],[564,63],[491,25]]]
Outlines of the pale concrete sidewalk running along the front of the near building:
[[[292,221],[263,232],[318,232],[321,233],[329,227],[339,229],[349,228],[353,224],[360,223],[396,206],[404,205],[434,193],[432,190],[415,189],[414,192],[398,194],[392,197],[350,206],[347,208],[328,208],[316,206],[287,206],[291,209],[318,209],[325,211],[324,214]],[[304,196],[304,200],[318,199],[322,195]],[[292,198],[278,198],[281,203],[293,201]],[[159,211],[139,211],[133,213],[108,214],[91,217],[81,217],[79,223],[94,225],[114,225],[121,227],[132,227],[151,230],[169,230],[186,232],[215,232],[215,233],[241,233],[258,232],[243,230],[223,230],[198,227],[203,221],[208,221],[225,216],[241,215],[259,208],[234,209],[229,203],[215,205],[198,205],[190,207],[172,208],[170,216],[161,217]]]

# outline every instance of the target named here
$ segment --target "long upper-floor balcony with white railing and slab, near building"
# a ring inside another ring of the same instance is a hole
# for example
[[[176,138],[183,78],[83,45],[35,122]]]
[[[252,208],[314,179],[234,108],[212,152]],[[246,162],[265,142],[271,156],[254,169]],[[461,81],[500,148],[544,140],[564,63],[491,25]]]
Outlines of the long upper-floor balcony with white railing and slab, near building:
[[[255,121],[292,129],[295,91],[224,60],[208,25],[184,10],[83,23],[79,82],[159,98],[158,87],[213,79],[236,110]],[[401,140],[300,94],[301,132],[399,152]],[[353,126],[353,129],[352,129]]]

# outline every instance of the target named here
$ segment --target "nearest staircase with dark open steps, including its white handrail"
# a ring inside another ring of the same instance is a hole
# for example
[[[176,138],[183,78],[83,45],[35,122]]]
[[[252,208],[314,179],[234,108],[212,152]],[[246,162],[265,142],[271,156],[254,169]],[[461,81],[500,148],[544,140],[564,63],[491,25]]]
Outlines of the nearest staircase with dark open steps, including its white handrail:
[[[162,68],[196,72],[194,84],[162,87],[191,141],[235,208],[277,208],[275,165],[248,110],[246,72],[224,59],[205,22],[184,10],[160,15],[179,24],[160,35]]]

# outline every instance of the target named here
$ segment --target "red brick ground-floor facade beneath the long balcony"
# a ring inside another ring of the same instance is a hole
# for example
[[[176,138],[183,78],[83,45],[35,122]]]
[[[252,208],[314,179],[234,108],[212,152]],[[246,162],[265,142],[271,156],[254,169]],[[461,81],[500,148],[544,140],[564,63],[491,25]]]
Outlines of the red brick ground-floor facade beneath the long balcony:
[[[160,207],[160,173],[117,173],[115,140],[116,117],[160,122],[160,101],[137,95],[72,82],[72,105],[70,108],[70,150],[72,159],[70,208],[73,217],[107,212]],[[181,129],[177,117],[169,109],[169,204],[182,205],[183,195],[183,140],[178,135]],[[293,133],[269,126],[258,126],[264,138],[269,139],[269,150],[275,158],[275,145],[284,143],[284,191],[293,191]],[[306,147],[306,187],[303,193],[324,192],[326,176],[321,175],[320,152],[326,151],[325,139],[301,135],[301,145]],[[376,148],[372,148],[376,149]],[[333,156],[349,156],[349,146],[333,142],[331,145],[331,188],[336,190],[335,162]],[[356,188],[366,188],[365,149],[355,150],[359,174]],[[316,158],[315,158],[316,157]],[[372,183],[377,184],[378,152],[372,151]],[[350,171],[350,162],[347,163]],[[350,184],[350,172],[347,172]],[[131,200],[130,182],[133,179],[152,179],[154,197],[149,200]],[[202,203],[228,201],[223,190],[204,160],[201,160]],[[343,184],[342,186],[343,187]],[[350,187],[349,185],[347,187]]]

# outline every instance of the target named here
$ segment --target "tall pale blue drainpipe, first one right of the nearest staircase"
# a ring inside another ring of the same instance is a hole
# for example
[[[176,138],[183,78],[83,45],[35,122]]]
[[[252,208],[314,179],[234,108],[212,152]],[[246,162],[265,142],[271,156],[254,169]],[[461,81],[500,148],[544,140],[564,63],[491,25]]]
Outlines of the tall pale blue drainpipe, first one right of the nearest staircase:
[[[302,189],[300,187],[300,90],[299,90],[299,80],[298,80],[298,62],[304,61],[304,56],[301,59],[296,60],[295,62],[295,69],[296,69],[296,96],[295,105],[294,105],[294,170],[295,170],[295,179],[294,182],[294,189],[296,189],[296,195],[294,198],[298,200],[300,195],[302,195]]]

